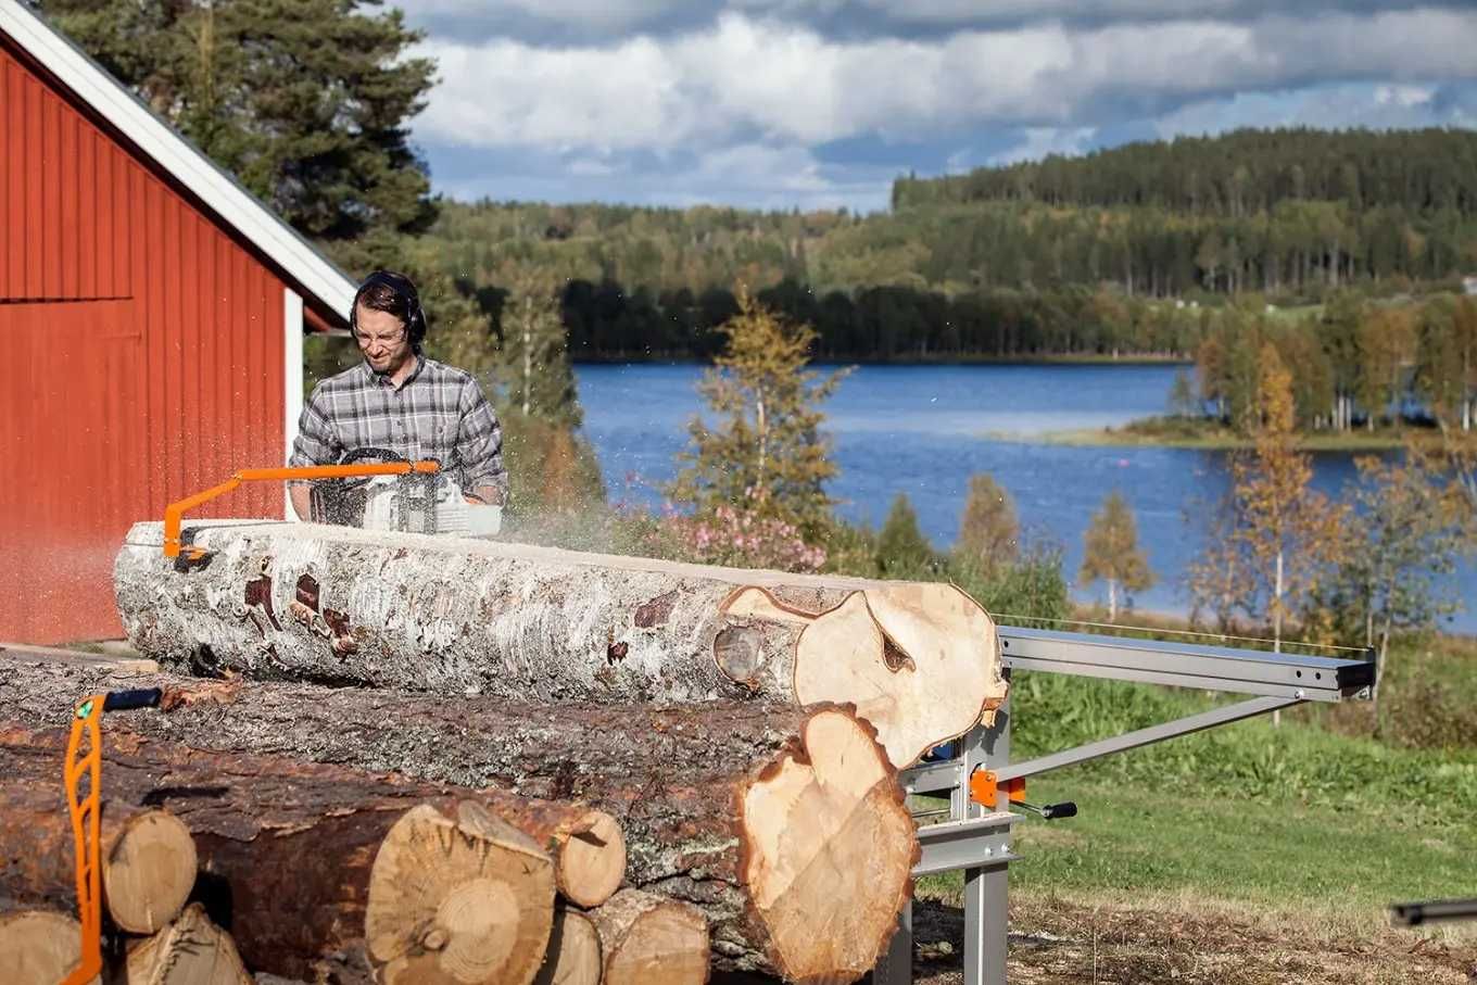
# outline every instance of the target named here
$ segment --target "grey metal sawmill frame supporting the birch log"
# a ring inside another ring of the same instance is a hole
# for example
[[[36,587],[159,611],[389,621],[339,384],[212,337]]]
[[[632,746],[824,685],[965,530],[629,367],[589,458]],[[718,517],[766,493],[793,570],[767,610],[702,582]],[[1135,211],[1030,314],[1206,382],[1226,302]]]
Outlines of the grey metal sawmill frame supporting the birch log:
[[[969,778],[975,769],[993,769],[1001,781],[1034,777],[1306,701],[1363,699],[1375,679],[1372,654],[1344,660],[1019,626],[998,626],[998,634],[1007,676],[1012,670],[1041,670],[1257,697],[1019,763],[1010,762],[1007,700],[995,712],[994,725],[978,727],[960,738],[954,759],[905,769],[901,780],[907,793],[948,793],[948,821],[919,827],[922,859],[913,874],[964,871],[964,985],[1006,982],[1009,867],[1019,858],[1010,849],[1010,831],[1019,815],[1009,811],[1004,792],[994,811],[969,799]],[[888,953],[873,970],[873,984],[911,982],[910,904],[899,916]]]

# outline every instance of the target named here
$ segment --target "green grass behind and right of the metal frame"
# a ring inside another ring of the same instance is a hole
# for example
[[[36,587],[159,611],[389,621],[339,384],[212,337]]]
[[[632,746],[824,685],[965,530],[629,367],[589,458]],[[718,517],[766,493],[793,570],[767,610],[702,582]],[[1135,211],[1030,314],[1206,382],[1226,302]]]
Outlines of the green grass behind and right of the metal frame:
[[[1477,704],[1473,641],[1405,644],[1396,666],[1391,701],[1436,678],[1456,709],[1443,715],[1470,716]],[[1012,700],[1021,761],[1223,699],[1019,673]],[[1288,715],[1281,728],[1252,719],[1034,778],[1032,802],[1074,800],[1080,812],[1016,826],[1012,890],[1180,895],[1353,923],[1381,921],[1394,901],[1477,895],[1477,731],[1458,730],[1461,741],[1440,749],[1350,731],[1322,710]],[[962,888],[947,873],[919,890],[954,904]]]

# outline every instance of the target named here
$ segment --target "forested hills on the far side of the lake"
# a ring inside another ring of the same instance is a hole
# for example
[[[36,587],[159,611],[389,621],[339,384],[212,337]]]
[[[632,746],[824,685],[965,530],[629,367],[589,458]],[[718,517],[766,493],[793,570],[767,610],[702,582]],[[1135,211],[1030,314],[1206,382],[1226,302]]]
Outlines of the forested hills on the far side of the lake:
[[[899,177],[892,208],[442,202],[467,291],[567,284],[576,359],[703,359],[746,284],[849,360],[1193,354],[1205,309],[1452,292],[1477,270],[1477,134],[1241,130]]]

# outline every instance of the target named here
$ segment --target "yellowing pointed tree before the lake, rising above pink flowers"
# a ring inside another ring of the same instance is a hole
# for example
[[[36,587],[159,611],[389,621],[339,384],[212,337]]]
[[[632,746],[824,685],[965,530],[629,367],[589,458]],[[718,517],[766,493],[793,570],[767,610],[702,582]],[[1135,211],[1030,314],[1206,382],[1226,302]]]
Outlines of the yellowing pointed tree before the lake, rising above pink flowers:
[[[718,328],[724,350],[697,384],[715,427],[700,415],[688,424],[691,446],[668,492],[699,512],[730,505],[792,523],[814,543],[832,521],[824,483],[837,471],[817,408],[845,371],[805,369],[814,329],[783,322],[747,289],[737,303]]]

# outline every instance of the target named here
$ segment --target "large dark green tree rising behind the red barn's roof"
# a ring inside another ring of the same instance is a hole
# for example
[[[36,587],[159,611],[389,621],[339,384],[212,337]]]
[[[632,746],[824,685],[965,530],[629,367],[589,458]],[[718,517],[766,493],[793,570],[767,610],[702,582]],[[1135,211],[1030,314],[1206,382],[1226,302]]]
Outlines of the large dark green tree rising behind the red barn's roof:
[[[41,12],[319,241],[436,217],[408,121],[434,65],[380,0],[44,0]]]

